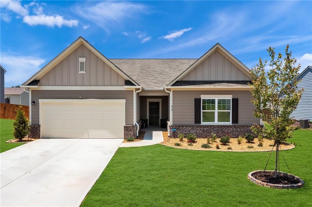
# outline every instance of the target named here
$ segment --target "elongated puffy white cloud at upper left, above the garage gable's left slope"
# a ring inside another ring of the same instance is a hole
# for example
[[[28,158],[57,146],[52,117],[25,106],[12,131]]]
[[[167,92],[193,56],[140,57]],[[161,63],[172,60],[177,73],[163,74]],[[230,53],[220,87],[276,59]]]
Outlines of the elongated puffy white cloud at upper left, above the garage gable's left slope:
[[[33,15],[33,16],[24,16],[23,22],[25,22],[26,24],[30,25],[30,26],[34,26],[34,25],[46,25],[46,26],[69,26],[69,27],[73,27],[73,26],[77,26],[78,25],[78,21],[77,20],[66,20],[63,18],[63,16],[60,15],[56,15],[56,16],[48,16],[45,14],[42,15]]]

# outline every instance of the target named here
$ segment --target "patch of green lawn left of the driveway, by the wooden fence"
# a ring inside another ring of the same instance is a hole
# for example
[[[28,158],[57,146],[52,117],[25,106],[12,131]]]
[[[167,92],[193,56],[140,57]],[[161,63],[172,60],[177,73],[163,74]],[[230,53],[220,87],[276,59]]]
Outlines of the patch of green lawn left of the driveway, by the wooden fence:
[[[24,143],[6,143],[13,139],[13,121],[11,119],[0,119],[0,153],[18,147]]]

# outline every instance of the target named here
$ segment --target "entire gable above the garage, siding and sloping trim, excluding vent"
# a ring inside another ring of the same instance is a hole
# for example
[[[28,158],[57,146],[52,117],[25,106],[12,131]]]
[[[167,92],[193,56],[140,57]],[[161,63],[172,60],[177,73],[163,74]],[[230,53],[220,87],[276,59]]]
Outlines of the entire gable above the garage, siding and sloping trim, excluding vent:
[[[85,73],[79,73],[79,58],[85,58]],[[79,37],[61,54],[28,79],[23,86],[124,86],[125,80],[138,84],[92,45]]]

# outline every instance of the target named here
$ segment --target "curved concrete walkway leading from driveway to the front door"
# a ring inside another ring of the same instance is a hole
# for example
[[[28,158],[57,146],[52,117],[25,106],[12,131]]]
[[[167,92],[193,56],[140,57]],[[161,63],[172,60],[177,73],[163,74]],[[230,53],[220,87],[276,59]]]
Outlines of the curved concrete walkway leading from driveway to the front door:
[[[142,131],[145,131],[144,139],[142,141],[122,143],[120,147],[141,147],[161,143],[163,141],[164,130],[166,131],[166,129],[159,127],[142,129]]]

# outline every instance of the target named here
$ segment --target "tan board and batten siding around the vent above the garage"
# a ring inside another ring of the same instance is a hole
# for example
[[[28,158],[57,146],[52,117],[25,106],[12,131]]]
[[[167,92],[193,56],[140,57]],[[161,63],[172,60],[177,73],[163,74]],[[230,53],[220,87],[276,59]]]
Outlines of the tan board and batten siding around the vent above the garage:
[[[79,72],[79,58],[85,57],[85,73]],[[39,86],[124,86],[124,78],[85,45],[40,78]]]

